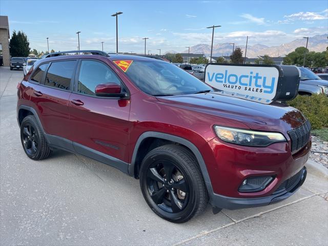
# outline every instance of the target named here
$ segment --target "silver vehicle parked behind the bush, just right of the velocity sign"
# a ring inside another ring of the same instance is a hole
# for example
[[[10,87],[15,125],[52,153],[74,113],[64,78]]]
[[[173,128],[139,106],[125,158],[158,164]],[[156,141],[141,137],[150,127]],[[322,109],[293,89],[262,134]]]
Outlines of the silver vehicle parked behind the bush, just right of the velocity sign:
[[[309,69],[300,67],[301,79],[298,88],[300,95],[325,94],[328,95],[328,81],[321,79]]]

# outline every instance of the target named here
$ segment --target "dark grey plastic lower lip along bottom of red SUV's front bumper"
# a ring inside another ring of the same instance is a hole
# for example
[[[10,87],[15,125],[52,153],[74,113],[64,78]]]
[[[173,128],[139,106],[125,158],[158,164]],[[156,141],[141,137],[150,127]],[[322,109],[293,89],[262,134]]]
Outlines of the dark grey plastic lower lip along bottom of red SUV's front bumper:
[[[267,206],[269,204],[284,200],[293,195],[302,186],[306,178],[306,174],[306,167],[303,167],[303,169],[300,171],[299,179],[295,183],[295,185],[289,187],[288,190],[284,190],[275,195],[258,198],[234,198],[213,194],[213,196],[211,197],[212,205],[221,209],[230,210]]]

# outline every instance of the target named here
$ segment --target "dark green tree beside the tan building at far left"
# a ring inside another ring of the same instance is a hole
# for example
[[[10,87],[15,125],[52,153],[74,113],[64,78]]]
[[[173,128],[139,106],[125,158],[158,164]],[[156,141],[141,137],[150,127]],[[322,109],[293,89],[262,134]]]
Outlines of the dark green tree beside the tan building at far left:
[[[13,31],[9,46],[11,56],[26,57],[30,54],[30,43],[23,31],[18,31],[18,33],[15,30]]]

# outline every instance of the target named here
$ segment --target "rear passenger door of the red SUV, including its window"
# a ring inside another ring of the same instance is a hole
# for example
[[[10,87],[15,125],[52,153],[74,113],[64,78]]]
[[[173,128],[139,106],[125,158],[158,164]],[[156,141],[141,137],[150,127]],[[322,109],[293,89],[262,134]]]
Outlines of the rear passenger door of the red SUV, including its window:
[[[52,144],[72,149],[68,101],[72,92],[77,60],[53,61],[43,83],[35,87],[31,101]],[[33,75],[32,75],[33,78]],[[68,146],[66,146],[66,144]]]

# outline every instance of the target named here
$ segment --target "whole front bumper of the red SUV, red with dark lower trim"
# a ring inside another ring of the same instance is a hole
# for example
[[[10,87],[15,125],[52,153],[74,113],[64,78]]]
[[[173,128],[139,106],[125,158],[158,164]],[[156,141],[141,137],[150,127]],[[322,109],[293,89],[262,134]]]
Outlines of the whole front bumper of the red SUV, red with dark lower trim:
[[[228,144],[215,138],[208,142],[206,166],[211,184],[207,183],[213,207],[241,209],[265,206],[293,195],[306,177],[305,162],[309,158],[311,139],[299,151],[291,152],[289,142],[279,142],[265,148]],[[205,151],[205,148],[203,149]],[[288,189],[281,186],[295,177],[297,183]],[[241,192],[243,180],[271,176],[273,180],[256,192]]]

